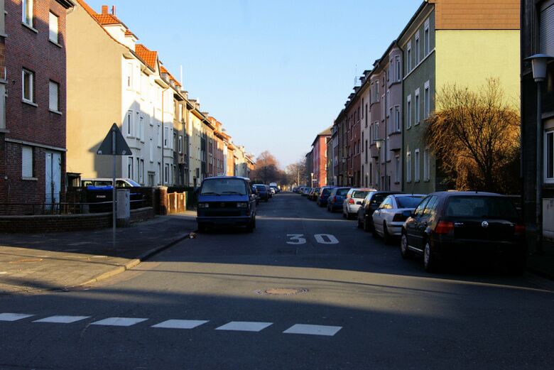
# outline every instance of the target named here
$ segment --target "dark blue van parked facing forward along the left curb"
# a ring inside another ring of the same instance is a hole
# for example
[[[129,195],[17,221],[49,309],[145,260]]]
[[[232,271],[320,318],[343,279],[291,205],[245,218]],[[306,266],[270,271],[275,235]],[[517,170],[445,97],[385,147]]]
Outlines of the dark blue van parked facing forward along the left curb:
[[[198,192],[198,231],[214,226],[256,227],[256,196],[250,180],[237,176],[206,178]]]

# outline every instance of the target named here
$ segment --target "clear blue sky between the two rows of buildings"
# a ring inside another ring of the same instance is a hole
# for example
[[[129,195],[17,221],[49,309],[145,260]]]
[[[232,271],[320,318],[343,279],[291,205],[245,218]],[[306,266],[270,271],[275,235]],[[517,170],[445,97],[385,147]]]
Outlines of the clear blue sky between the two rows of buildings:
[[[234,143],[284,168],[332,125],[354,77],[422,0],[88,0],[116,15],[222,122]]]

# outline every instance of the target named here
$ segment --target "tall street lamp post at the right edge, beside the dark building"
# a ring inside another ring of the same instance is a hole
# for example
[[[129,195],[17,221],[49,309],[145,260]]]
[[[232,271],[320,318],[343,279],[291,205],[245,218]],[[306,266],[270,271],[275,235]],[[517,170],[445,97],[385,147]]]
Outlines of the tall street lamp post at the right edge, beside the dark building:
[[[533,80],[537,85],[537,123],[536,123],[536,246],[535,253],[543,253],[543,212],[541,205],[543,197],[543,102],[542,102],[542,82],[546,79],[546,69],[548,61],[554,58],[546,54],[535,54],[525,60],[531,61],[533,66]]]

